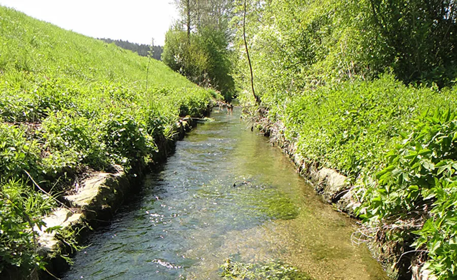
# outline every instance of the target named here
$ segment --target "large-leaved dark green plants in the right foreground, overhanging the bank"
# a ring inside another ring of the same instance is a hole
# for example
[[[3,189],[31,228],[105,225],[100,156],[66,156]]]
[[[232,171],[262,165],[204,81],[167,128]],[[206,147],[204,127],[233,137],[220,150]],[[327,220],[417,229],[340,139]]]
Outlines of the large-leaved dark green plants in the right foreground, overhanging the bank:
[[[359,211],[372,225],[408,221],[416,227],[413,246],[427,253],[425,268],[449,279],[457,274],[457,112],[429,115],[422,114],[387,154],[387,167],[376,174],[378,187],[368,189]]]

